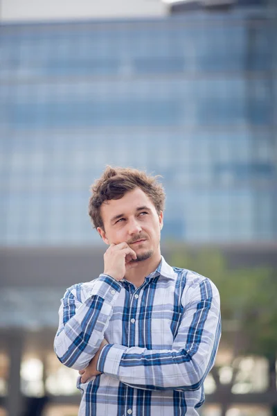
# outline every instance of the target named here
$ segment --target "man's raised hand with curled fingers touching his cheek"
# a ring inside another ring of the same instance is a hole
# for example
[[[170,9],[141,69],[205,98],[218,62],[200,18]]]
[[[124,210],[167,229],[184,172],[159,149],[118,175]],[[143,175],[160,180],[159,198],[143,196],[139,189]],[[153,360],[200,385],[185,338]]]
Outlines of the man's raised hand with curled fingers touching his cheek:
[[[127,243],[111,244],[104,254],[104,273],[117,281],[123,279],[126,270],[137,266],[136,252]]]

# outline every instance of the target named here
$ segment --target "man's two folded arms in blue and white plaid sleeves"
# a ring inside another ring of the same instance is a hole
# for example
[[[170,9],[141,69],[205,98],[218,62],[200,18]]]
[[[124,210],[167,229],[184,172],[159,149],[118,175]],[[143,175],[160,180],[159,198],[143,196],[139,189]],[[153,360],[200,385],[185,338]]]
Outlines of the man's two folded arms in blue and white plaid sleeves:
[[[221,329],[219,295],[211,281],[204,279],[190,288],[170,350],[105,342],[105,329],[121,286],[100,275],[91,287],[84,302],[80,295],[78,299],[78,285],[66,292],[54,343],[57,357],[64,365],[81,370],[82,381],[103,372],[132,387],[150,390],[197,390],[202,385],[215,361]]]

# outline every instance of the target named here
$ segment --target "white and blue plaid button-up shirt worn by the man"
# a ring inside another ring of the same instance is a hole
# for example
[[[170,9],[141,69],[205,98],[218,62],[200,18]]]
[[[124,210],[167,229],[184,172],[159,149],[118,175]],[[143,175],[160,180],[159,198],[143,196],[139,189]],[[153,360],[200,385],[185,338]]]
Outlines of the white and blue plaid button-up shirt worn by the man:
[[[221,333],[215,285],[161,259],[136,288],[108,275],[69,288],[60,306],[55,352],[82,370],[96,354],[98,371],[77,387],[79,416],[195,416]]]

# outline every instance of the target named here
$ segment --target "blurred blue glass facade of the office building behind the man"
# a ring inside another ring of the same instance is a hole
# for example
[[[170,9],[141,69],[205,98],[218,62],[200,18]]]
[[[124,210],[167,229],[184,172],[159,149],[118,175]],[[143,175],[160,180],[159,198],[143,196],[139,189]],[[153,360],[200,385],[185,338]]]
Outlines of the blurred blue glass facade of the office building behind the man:
[[[274,241],[273,16],[2,25],[1,245],[99,241],[105,164],[163,175],[164,239]]]

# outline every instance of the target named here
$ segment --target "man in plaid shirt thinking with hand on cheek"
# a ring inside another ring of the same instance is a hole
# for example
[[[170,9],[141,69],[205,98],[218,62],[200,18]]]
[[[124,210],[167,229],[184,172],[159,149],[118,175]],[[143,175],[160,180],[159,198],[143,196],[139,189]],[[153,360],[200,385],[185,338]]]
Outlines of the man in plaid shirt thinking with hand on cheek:
[[[217,288],[161,257],[156,177],[108,166],[91,190],[104,272],[66,291],[55,336],[61,363],[80,370],[79,416],[198,415],[220,340]]]

